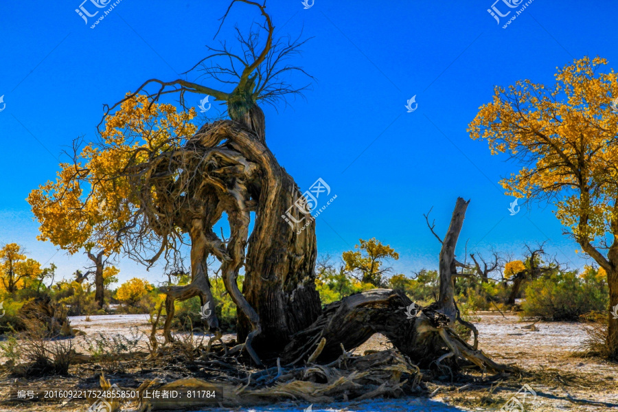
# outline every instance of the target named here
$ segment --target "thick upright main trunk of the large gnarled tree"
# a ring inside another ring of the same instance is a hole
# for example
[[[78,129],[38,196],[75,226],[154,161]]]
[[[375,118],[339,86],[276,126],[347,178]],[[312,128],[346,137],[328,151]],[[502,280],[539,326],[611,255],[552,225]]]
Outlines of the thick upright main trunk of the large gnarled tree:
[[[233,95],[228,108],[233,121],[253,132],[230,133],[227,138],[233,143],[231,146],[258,164],[261,173],[259,181],[249,187],[257,209],[244,262],[242,293],[260,319],[262,332],[255,338],[256,350],[275,354],[292,334],[317,319],[321,311],[314,284],[315,224],[310,222],[298,233],[282,218],[302,195],[292,176],[266,146],[262,109],[246,95]],[[240,312],[239,341],[247,338],[250,328],[249,317]]]

